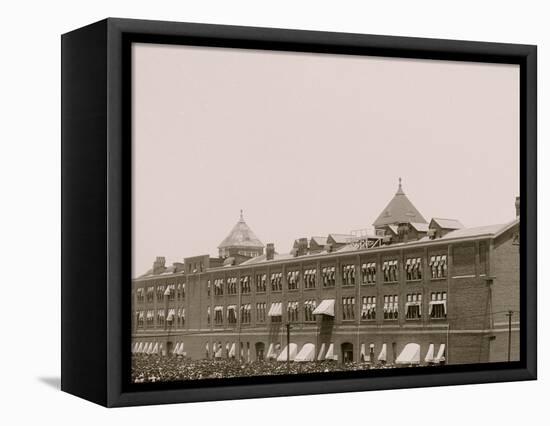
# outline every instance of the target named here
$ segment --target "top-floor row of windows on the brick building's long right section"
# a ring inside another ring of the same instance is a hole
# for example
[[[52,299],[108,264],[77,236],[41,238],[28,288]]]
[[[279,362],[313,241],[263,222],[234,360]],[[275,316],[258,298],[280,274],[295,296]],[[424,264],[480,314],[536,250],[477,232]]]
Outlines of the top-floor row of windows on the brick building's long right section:
[[[430,271],[431,278],[445,278],[447,276],[447,256],[432,256],[430,259]],[[353,286],[356,283],[355,265],[346,264],[342,265],[342,285]],[[409,258],[405,262],[405,274],[407,281],[421,280],[423,277],[422,272],[422,259]],[[382,277],[385,283],[392,283],[399,281],[399,262],[397,260],[387,260],[382,263]],[[288,271],[286,276],[288,290],[298,290],[300,286],[301,274],[299,270]],[[303,273],[304,287],[311,289],[316,287],[317,270],[306,269]],[[237,278],[217,278],[214,280],[214,295],[221,296],[224,294],[224,281],[227,282],[227,294],[237,294]],[[321,269],[321,281],[323,287],[334,287],[336,285],[336,267],[326,266]],[[254,280],[257,293],[265,293],[267,290],[267,275],[257,274]],[[361,265],[361,284],[375,284],[376,283],[376,263],[363,263]],[[274,272],[270,275],[271,291],[278,292],[283,290],[283,274],[282,272]],[[211,282],[207,282],[208,295],[211,292]],[[252,279],[249,275],[245,275],[240,278],[240,287],[242,294],[248,294],[252,292]]]

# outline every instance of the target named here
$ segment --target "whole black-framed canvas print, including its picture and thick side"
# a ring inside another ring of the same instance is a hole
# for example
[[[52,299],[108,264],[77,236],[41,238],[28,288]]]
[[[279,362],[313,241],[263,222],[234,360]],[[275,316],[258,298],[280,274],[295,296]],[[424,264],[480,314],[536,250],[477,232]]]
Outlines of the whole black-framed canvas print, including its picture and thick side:
[[[113,407],[535,379],[536,69],[518,44],[63,35],[62,389]]]

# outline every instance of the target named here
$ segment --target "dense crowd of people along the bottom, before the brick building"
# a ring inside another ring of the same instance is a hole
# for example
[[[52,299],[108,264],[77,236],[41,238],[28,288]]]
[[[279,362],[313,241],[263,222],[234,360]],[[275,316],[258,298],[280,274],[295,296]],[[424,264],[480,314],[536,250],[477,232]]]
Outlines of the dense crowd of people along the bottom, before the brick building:
[[[132,381],[134,383],[165,382],[175,380],[220,379],[230,377],[328,373],[334,371],[358,371],[371,368],[394,368],[389,364],[338,363],[335,361],[241,362],[235,359],[190,360],[182,357],[158,355],[134,356]]]

